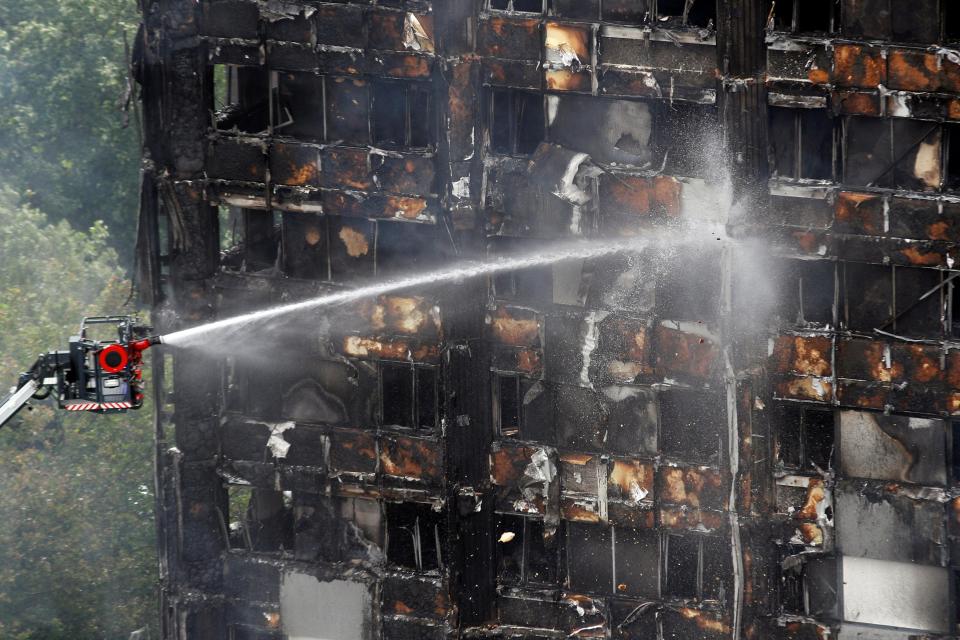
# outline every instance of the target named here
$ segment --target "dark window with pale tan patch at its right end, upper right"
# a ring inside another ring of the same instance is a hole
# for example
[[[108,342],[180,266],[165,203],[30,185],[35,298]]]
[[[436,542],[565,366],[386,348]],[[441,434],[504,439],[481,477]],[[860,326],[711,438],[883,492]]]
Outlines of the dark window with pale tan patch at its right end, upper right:
[[[848,117],[844,181],[913,191],[939,188],[941,128],[907,118]]]

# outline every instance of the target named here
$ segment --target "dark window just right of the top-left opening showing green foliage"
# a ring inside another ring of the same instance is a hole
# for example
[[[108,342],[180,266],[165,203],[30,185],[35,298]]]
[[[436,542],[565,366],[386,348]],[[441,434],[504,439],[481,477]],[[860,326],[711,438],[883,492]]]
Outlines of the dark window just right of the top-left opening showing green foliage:
[[[273,130],[280,136],[323,140],[324,77],[312,73],[276,74]]]

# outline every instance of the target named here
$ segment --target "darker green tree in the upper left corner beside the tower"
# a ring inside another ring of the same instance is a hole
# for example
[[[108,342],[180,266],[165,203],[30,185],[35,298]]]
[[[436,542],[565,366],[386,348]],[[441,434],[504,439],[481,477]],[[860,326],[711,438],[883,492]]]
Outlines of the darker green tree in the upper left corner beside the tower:
[[[0,176],[51,219],[105,221],[126,268],[140,152],[120,104],[138,19],[135,0],[0,2]]]

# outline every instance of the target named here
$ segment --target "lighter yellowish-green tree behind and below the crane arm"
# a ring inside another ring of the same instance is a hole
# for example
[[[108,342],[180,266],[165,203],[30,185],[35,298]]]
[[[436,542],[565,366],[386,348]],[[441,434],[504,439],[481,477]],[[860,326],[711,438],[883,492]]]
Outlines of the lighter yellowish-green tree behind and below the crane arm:
[[[0,385],[129,282],[101,223],[51,224],[0,189]],[[0,429],[0,638],[126,638],[156,619],[151,412],[37,402]]]

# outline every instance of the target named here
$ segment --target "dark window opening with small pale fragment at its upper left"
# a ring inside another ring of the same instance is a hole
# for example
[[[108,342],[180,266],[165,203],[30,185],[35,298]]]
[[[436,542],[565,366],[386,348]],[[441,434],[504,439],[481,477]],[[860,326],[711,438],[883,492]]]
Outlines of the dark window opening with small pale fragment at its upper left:
[[[513,584],[555,584],[559,571],[559,537],[550,544],[543,522],[501,515],[497,522],[497,575]]]

